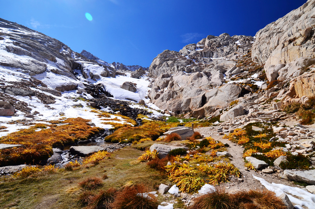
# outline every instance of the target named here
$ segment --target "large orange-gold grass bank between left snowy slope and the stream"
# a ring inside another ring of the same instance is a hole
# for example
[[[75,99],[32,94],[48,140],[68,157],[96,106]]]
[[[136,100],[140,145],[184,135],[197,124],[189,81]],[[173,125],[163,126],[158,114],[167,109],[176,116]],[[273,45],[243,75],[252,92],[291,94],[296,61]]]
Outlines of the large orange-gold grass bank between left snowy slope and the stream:
[[[48,159],[52,147],[76,143],[78,140],[90,139],[101,131],[101,128],[87,125],[83,118],[68,118],[58,123],[64,125],[36,124],[29,129],[23,129],[0,138],[0,143],[23,144],[23,147],[0,150],[0,166],[20,165],[24,163],[39,163]],[[57,123],[56,121],[51,121]],[[49,129],[45,129],[50,126]],[[41,128],[40,131],[35,131]]]

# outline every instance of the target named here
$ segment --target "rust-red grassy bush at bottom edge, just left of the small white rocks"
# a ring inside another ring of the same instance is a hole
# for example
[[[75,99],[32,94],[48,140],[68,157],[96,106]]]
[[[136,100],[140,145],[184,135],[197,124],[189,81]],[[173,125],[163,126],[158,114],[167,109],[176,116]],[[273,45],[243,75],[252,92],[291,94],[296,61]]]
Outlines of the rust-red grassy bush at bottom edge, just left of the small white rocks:
[[[117,193],[112,209],[157,209],[158,200],[142,184],[126,187]]]

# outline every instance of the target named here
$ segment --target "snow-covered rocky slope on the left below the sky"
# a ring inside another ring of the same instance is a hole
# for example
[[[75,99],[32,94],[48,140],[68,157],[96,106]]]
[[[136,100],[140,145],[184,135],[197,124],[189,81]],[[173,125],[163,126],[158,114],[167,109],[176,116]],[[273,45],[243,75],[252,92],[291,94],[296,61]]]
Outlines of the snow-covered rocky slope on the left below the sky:
[[[0,116],[0,126],[6,127],[0,136],[28,127],[28,123],[12,121],[43,123],[64,117],[91,119],[96,126],[110,129],[111,125],[97,117],[99,113],[91,112],[89,102],[99,97],[106,100],[103,93],[112,95],[114,100],[131,102],[132,108],[136,107],[132,103],[140,100],[149,105],[146,76],[131,78],[130,73],[118,73],[110,64],[90,58],[72,51],[54,38],[0,19],[0,101],[15,109],[13,115]],[[125,81],[133,82],[136,91],[122,89]],[[99,89],[102,91],[95,93]],[[110,107],[101,108],[114,112]],[[161,116],[155,110],[150,109],[150,112],[154,112],[152,116]],[[110,117],[116,118],[112,122],[126,122],[119,116]]]

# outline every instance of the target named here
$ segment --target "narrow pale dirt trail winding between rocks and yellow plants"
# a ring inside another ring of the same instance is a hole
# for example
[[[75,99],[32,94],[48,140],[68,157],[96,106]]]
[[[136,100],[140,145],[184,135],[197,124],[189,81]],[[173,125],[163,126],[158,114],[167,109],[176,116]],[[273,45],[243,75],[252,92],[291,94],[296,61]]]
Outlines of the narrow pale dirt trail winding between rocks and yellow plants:
[[[218,135],[216,132],[214,132],[214,129],[211,129],[210,127],[202,127],[202,128],[196,128],[194,131],[199,132],[201,135],[204,135],[204,137],[212,137],[215,140],[219,140],[222,143],[229,144],[229,147],[227,147],[227,152],[231,154],[231,163],[236,166],[240,172],[242,173],[242,179],[243,181],[239,181],[238,178],[231,178],[230,182],[222,184],[223,187],[227,191],[234,191],[234,190],[251,190],[251,189],[264,189],[265,187],[260,184],[258,180],[252,177],[252,174],[264,178],[268,182],[274,182],[274,183],[281,183],[284,185],[289,186],[295,186],[299,187],[298,185],[294,185],[292,182],[279,178],[278,173],[274,174],[263,174],[261,171],[254,172],[254,171],[246,171],[244,166],[244,160],[243,160],[243,150],[241,146],[239,146],[236,143],[233,143],[229,141],[228,139],[222,139],[223,135]]]

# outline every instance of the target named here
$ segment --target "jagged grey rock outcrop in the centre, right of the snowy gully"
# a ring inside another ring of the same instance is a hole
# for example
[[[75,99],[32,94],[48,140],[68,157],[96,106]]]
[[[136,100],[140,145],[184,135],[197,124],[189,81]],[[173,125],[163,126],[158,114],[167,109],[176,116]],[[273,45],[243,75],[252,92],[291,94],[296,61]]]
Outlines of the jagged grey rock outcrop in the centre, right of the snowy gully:
[[[179,52],[163,51],[149,68],[156,78],[150,99],[161,109],[191,112],[193,117],[209,116],[217,108],[226,107],[239,97],[242,88],[224,84],[224,73],[243,71],[236,67],[236,60],[249,52],[252,41],[251,36],[244,35],[208,35]]]

